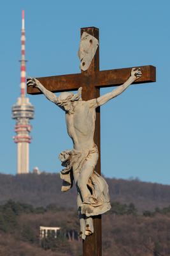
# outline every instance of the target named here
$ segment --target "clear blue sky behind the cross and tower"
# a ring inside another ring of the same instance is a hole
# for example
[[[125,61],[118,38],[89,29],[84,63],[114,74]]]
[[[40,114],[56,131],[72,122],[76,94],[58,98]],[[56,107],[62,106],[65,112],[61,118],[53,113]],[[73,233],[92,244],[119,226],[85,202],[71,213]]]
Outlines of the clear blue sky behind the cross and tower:
[[[100,29],[100,69],[155,65],[157,83],[131,86],[101,108],[101,167],[106,177],[170,184],[169,1],[1,1],[0,172],[16,173],[11,106],[20,93],[21,12],[25,10],[27,76],[80,72],[80,28]],[[102,89],[101,95],[111,88]],[[61,170],[72,148],[64,113],[43,95],[35,107],[30,170]]]

